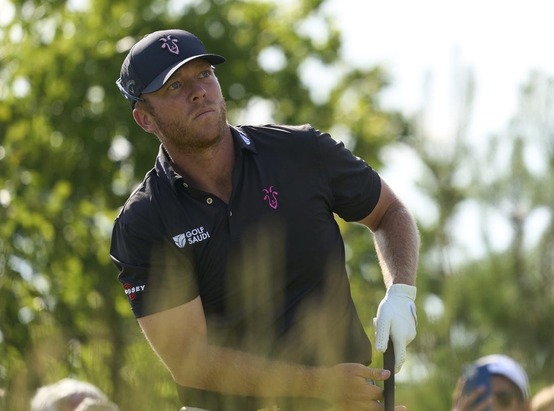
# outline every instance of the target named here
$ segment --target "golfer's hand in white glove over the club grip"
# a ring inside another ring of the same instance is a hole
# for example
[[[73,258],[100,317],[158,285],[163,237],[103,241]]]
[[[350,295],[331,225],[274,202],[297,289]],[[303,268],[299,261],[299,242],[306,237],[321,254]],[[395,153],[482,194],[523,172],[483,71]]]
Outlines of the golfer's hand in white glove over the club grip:
[[[375,350],[385,352],[388,338],[394,346],[394,373],[400,371],[406,360],[406,346],[416,338],[417,288],[407,284],[393,284],[387,290],[373,318]]]

